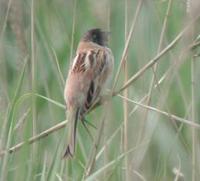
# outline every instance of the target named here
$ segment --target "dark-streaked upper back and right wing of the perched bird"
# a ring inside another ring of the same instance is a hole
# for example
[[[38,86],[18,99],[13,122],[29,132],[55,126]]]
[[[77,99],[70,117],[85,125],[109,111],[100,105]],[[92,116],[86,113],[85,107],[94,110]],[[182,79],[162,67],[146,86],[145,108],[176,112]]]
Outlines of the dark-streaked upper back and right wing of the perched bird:
[[[108,48],[88,48],[77,52],[70,74],[83,80],[85,100],[81,114],[93,105],[112,72],[113,56]],[[74,83],[76,84],[76,83]],[[77,85],[79,87],[79,85]]]

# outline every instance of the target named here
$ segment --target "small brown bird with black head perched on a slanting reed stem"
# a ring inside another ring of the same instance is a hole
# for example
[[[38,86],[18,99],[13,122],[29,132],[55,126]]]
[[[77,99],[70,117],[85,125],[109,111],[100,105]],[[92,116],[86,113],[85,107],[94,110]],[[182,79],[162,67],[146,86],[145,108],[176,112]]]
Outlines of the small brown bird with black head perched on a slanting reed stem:
[[[69,121],[69,142],[64,157],[75,152],[77,121],[101,96],[114,65],[112,51],[107,47],[108,32],[91,29],[86,32],[76,51],[65,85],[64,98]]]

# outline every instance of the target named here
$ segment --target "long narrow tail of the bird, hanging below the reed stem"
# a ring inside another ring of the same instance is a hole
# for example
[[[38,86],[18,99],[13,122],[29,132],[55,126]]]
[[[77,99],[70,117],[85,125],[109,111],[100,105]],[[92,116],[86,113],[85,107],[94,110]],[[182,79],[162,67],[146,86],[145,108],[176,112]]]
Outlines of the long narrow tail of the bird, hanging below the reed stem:
[[[79,112],[79,109],[76,108],[69,110],[67,113],[67,120],[69,121],[69,140],[63,158],[73,157],[74,155],[76,144],[76,128],[77,121],[79,119]]]

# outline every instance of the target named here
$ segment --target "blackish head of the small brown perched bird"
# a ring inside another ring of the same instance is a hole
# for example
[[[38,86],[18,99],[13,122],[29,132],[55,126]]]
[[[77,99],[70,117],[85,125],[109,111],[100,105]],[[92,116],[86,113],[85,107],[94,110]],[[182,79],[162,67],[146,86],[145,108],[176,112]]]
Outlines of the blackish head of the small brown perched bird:
[[[108,42],[108,32],[102,31],[100,28],[91,29],[83,35],[84,41],[92,41],[101,46],[106,46]]]

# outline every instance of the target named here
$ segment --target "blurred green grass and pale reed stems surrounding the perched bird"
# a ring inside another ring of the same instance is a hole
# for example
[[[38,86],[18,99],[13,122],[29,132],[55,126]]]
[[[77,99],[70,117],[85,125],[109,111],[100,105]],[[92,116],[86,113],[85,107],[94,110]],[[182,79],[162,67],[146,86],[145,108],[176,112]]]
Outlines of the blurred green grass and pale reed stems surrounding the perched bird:
[[[1,0],[0,180],[198,180],[199,4]],[[65,79],[94,27],[111,32],[117,94],[87,116],[93,139],[79,124],[63,160]]]

